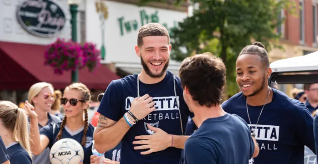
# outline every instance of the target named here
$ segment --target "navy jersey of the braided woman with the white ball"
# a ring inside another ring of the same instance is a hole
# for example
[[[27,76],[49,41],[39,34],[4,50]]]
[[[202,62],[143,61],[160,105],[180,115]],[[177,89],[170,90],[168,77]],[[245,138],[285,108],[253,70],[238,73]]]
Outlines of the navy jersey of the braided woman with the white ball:
[[[49,125],[44,126],[40,130],[40,135],[45,135],[49,139],[49,144],[47,145],[48,148],[51,149],[51,147],[55,144],[56,142],[56,136],[58,132],[60,131],[60,125],[61,122],[59,123],[51,123]],[[54,127],[54,128],[53,128]],[[82,138],[83,138],[83,131],[84,127],[82,127],[79,130],[76,130],[72,132],[66,125],[63,129],[63,135],[62,138],[71,138],[76,140],[78,143],[82,143]],[[84,161],[83,164],[90,164],[90,157],[92,155],[92,146],[93,146],[93,134],[94,134],[94,126],[89,124],[88,129],[86,132],[86,145],[83,146],[84,150]]]

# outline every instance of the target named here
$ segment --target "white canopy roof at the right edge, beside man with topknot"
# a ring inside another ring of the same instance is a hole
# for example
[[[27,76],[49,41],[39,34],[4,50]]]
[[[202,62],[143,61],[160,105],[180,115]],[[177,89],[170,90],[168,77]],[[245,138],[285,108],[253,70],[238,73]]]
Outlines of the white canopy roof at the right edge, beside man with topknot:
[[[297,72],[318,70],[318,51],[299,57],[287,58],[270,64],[272,72]]]

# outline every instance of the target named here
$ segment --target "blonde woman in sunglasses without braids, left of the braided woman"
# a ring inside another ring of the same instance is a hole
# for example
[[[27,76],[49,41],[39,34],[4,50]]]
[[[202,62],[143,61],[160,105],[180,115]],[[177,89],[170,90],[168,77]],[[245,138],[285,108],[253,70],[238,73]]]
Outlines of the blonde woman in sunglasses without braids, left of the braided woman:
[[[54,88],[50,83],[37,82],[30,87],[28,91],[28,102],[34,106],[39,130],[45,125],[61,121],[59,117],[49,113],[55,98]],[[49,153],[50,150],[47,148],[40,155],[33,156],[34,164],[50,164]]]

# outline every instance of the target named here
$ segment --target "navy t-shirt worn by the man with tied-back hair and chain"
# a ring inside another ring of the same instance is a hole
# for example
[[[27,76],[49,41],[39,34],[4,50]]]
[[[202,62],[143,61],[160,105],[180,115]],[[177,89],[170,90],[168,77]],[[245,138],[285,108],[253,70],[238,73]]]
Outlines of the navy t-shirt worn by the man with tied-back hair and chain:
[[[272,90],[273,100],[265,105],[255,130],[260,153],[252,160],[255,164],[302,164],[305,146],[316,152],[314,117],[300,101],[277,89]],[[253,129],[262,107],[248,105],[251,125],[242,92],[222,104],[226,112],[242,117]]]

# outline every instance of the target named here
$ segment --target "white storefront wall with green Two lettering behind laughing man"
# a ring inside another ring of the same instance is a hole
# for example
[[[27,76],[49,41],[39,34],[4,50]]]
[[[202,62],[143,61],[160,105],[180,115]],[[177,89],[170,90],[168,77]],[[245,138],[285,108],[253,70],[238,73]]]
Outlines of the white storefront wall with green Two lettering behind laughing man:
[[[96,43],[98,47],[104,46],[106,58],[103,63],[115,63],[116,67],[131,70],[142,68],[135,45],[143,25],[157,22],[171,33],[171,29],[178,27],[178,22],[187,17],[187,12],[103,0],[108,9],[108,18],[101,30],[101,13],[97,11],[96,1],[99,0],[85,0],[86,17],[89,18],[85,21],[86,40]],[[178,63],[172,60],[169,68],[174,67],[173,64],[176,69],[179,68]]]

